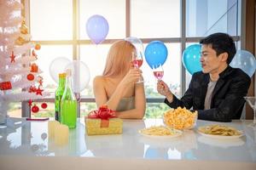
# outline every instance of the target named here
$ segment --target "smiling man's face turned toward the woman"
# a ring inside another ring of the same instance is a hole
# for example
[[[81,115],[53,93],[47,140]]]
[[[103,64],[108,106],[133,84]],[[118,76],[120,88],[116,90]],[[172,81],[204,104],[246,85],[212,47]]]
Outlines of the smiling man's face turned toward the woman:
[[[216,51],[212,49],[212,45],[202,45],[200,61],[204,73],[218,72],[218,68],[222,64],[221,60],[221,54],[217,56]]]

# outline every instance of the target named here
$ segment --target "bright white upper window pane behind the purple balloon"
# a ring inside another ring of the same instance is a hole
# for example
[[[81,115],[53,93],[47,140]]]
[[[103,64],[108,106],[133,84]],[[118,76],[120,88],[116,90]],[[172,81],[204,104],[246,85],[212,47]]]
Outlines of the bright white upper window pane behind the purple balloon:
[[[89,39],[86,33],[86,22],[90,16],[100,14],[108,20],[106,39],[125,37],[125,0],[80,0],[80,39]]]

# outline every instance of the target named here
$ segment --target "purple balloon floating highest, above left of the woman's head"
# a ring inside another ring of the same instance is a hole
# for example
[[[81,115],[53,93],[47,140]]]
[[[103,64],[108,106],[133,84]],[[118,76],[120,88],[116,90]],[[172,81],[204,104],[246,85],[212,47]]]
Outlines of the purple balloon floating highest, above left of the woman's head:
[[[90,40],[96,44],[101,43],[108,35],[108,20],[102,15],[92,15],[86,22],[86,32]]]

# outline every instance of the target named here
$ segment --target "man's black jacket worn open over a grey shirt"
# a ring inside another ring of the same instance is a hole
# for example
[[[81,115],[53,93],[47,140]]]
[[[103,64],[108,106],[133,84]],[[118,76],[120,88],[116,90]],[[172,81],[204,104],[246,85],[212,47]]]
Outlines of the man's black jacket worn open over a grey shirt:
[[[251,79],[241,69],[228,66],[219,74],[218,82],[212,92],[211,109],[204,110],[209,74],[196,72],[191,79],[188,90],[181,99],[173,95],[172,103],[165,99],[166,105],[178,106],[198,111],[198,118],[208,121],[231,122],[240,119],[245,103],[244,96],[250,86]]]

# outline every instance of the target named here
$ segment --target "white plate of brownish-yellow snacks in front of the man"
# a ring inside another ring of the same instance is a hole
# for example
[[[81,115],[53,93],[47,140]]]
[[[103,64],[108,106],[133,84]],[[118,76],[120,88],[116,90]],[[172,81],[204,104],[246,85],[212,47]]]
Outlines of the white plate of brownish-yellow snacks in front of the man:
[[[220,124],[212,124],[203,127],[198,127],[198,133],[215,139],[237,139],[243,136],[241,130],[235,127],[229,127]]]

